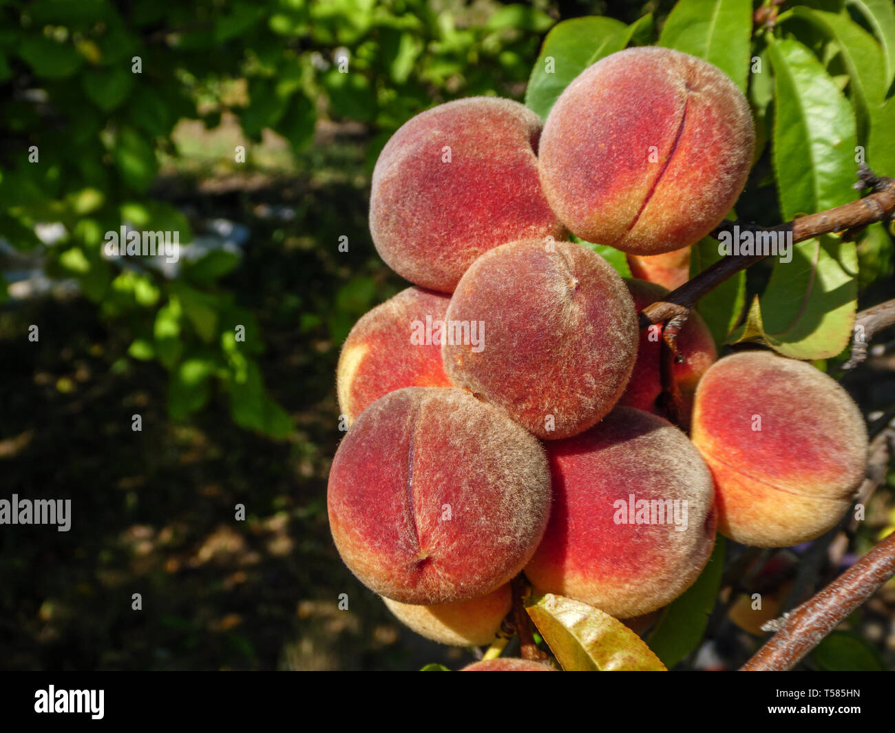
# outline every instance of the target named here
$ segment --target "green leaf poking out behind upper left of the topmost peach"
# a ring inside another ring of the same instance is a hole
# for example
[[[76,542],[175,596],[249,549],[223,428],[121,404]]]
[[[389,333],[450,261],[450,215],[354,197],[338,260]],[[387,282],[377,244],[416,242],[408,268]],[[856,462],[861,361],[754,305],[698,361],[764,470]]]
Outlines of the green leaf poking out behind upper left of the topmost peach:
[[[534,63],[525,106],[547,119],[569,82],[603,56],[624,48],[631,32],[612,18],[575,18],[555,25]]]

